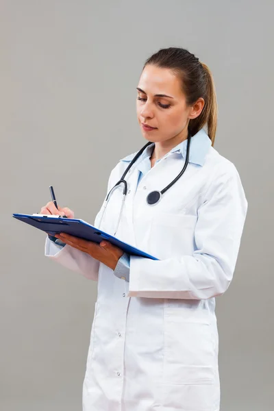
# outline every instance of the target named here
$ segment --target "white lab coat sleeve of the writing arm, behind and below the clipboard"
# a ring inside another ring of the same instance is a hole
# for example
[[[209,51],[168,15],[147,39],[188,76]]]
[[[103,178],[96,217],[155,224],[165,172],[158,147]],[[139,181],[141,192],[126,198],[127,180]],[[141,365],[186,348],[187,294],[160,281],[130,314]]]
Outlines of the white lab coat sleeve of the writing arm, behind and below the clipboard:
[[[112,173],[113,171],[114,170],[112,170]],[[108,179],[108,191],[110,190],[112,184],[112,173],[110,173],[110,177]],[[97,218],[99,217],[99,214],[101,214],[102,208],[103,205],[95,218],[95,227],[97,224]],[[84,275],[84,277],[88,279],[92,279],[94,281],[98,280],[100,262],[88,253],[84,253],[83,251],[71,247],[70,245],[63,246],[62,243],[58,244],[58,242],[54,242],[47,237],[45,244],[45,256],[62,264],[62,266],[65,266],[67,269],[77,271],[77,273]]]

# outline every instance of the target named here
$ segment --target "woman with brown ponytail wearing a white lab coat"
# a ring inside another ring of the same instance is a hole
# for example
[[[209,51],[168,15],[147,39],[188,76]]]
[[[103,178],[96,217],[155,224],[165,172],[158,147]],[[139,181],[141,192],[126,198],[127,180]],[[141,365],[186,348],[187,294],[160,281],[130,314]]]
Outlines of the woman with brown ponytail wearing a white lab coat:
[[[185,49],[160,49],[137,90],[138,123],[153,144],[125,177],[117,232],[123,184],[95,226],[159,260],[69,235],[46,242],[46,256],[98,281],[83,410],[217,411],[214,297],[232,280],[247,200],[236,167],[212,147],[217,108],[206,64]],[[114,167],[108,192],[135,155]],[[187,157],[184,174],[151,206],[147,195],[169,186]],[[52,202],[40,212],[74,215]]]

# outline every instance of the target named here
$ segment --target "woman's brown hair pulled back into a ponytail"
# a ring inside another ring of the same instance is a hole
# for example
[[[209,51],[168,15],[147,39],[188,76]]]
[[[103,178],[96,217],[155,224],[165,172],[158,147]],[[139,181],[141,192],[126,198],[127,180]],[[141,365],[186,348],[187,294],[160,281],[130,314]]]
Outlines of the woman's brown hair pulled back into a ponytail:
[[[160,49],[146,60],[143,69],[147,64],[153,64],[162,69],[171,69],[175,75],[179,76],[187,105],[194,104],[200,97],[204,99],[205,105],[201,114],[196,119],[190,119],[188,129],[194,136],[204,125],[207,125],[208,136],[213,146],[218,108],[214,81],[208,66],[201,63],[194,54],[181,47]]]

